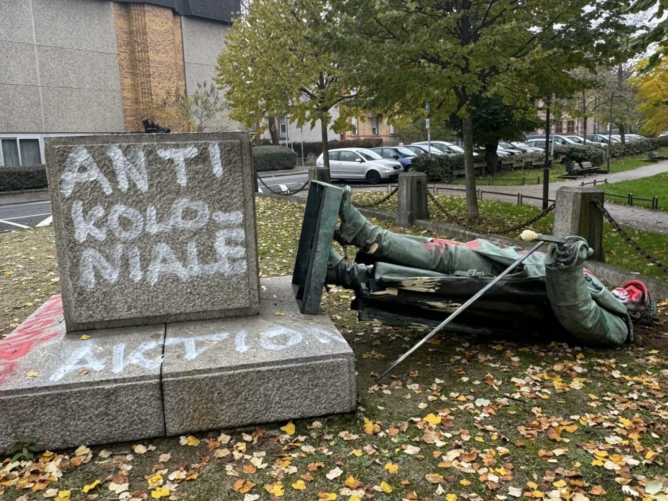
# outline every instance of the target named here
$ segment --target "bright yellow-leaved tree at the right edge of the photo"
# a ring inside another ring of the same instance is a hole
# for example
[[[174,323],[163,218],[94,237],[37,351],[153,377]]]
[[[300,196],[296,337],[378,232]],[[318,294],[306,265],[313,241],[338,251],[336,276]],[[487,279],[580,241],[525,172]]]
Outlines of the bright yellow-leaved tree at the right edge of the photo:
[[[647,60],[640,61],[638,67],[645,67]],[[668,129],[668,61],[639,71],[631,78],[638,90],[638,111],[643,115],[643,134],[661,134]]]

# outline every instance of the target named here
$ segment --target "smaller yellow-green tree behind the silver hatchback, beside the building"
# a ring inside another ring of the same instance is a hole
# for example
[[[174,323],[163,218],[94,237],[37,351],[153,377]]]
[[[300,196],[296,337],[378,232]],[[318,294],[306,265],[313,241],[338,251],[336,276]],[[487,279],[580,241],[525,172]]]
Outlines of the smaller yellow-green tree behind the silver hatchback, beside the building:
[[[298,127],[319,121],[325,168],[327,130],[351,128],[344,105],[357,96],[353,61],[337,33],[342,22],[324,1],[255,0],[232,25],[214,79],[234,120],[250,126],[289,115]]]

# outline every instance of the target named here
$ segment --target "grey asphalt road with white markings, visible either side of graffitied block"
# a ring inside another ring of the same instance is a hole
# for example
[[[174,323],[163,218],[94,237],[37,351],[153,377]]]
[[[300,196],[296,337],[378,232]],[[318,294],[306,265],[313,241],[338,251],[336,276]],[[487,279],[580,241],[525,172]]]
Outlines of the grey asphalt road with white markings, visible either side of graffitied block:
[[[266,176],[263,181],[275,191],[299,190],[309,178],[307,172],[289,176]],[[261,192],[268,193],[262,183]],[[47,226],[51,224],[51,202],[27,202],[25,204],[0,205],[0,232]]]

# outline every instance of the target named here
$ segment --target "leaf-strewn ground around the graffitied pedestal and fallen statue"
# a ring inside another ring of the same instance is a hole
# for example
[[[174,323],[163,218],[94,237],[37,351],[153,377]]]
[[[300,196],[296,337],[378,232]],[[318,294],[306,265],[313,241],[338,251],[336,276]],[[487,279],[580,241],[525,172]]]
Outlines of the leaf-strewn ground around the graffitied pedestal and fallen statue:
[[[303,206],[258,198],[257,214],[261,273],[289,273]],[[53,233],[3,233],[0,249],[7,333],[58,290]],[[184,438],[189,445],[174,437],[7,460],[0,496],[594,501],[651,499],[666,485],[665,305],[654,329],[637,329],[636,341],[617,349],[578,347],[538,325],[523,337],[441,333],[377,384],[373,376],[424,331],[360,324],[350,299],[333,287],[322,306],[355,353],[356,412],[295,420],[294,429],[216,430]]]

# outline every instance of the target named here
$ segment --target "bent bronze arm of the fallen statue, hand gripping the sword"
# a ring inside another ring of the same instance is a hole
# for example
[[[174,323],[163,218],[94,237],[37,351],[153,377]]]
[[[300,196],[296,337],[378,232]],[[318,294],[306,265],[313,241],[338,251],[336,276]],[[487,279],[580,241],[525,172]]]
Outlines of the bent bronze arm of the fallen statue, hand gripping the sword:
[[[626,309],[602,285],[591,281],[588,287],[582,272],[587,251],[574,257],[576,251],[564,248],[557,253],[556,246],[550,246],[545,259],[545,285],[552,311],[568,332],[588,345],[621,345],[633,334],[630,321],[624,321]],[[593,295],[597,296],[598,302],[594,301]]]

